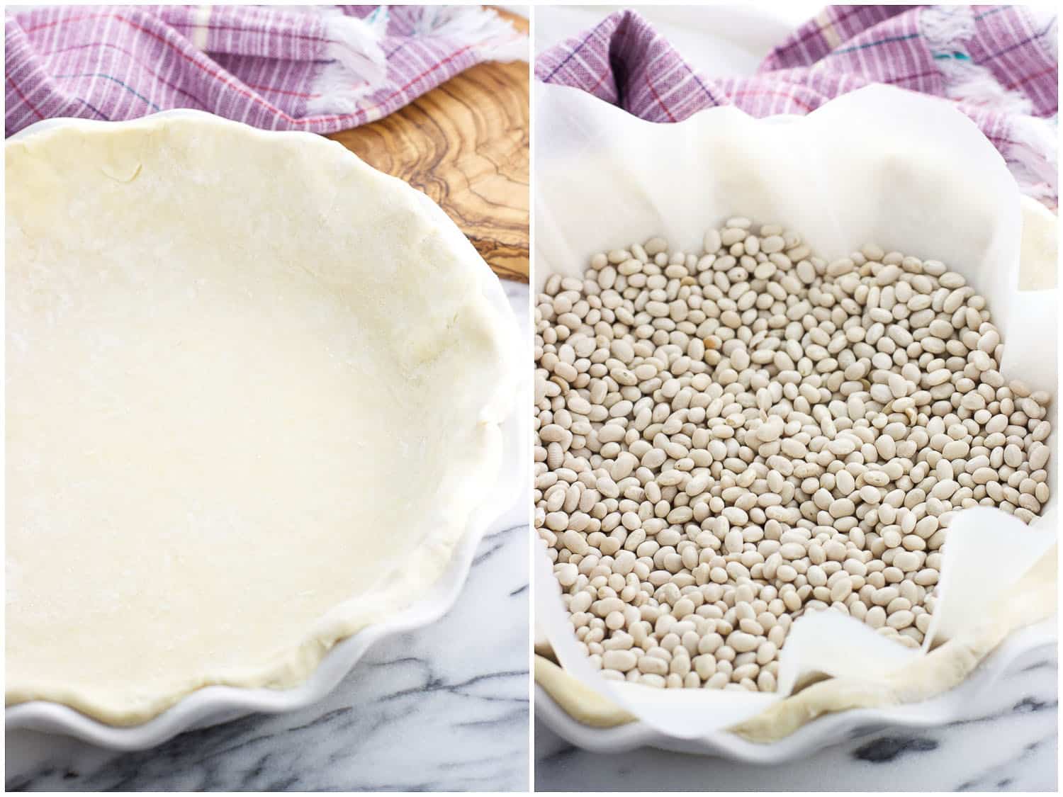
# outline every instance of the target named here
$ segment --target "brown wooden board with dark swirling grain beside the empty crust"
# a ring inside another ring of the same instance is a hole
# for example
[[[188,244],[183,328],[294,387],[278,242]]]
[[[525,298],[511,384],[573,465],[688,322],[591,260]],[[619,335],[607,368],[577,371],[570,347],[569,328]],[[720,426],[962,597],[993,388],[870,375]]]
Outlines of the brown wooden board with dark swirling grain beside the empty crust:
[[[526,19],[499,11],[527,32]],[[330,136],[434,199],[496,274],[528,279],[528,65],[467,69],[390,116]]]

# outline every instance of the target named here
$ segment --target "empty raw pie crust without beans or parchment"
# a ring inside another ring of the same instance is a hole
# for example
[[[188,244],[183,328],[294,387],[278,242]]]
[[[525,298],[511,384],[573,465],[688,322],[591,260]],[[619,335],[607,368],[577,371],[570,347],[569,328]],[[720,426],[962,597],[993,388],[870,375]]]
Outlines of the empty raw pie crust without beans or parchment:
[[[6,155],[6,700],[285,688],[442,574],[512,321],[431,200],[208,115]]]

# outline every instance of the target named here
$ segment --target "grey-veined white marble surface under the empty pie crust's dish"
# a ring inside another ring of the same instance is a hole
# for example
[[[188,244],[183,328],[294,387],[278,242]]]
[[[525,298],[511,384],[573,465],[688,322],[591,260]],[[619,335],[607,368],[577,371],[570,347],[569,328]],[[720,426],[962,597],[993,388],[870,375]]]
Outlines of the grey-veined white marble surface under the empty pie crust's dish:
[[[527,286],[503,286],[527,328]],[[442,620],[375,645],[320,703],[130,753],[10,731],[7,788],[525,791],[528,505],[489,529]]]

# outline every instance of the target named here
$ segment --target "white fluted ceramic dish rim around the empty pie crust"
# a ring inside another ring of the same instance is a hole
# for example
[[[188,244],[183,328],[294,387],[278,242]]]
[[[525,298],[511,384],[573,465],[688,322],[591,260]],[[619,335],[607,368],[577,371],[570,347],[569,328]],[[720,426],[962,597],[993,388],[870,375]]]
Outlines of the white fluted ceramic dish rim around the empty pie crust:
[[[202,112],[168,111],[154,117],[207,116]],[[9,140],[26,138],[44,130],[83,120],[48,119],[27,128]],[[97,122],[120,125],[122,122]],[[284,136],[306,136],[309,133],[279,133]],[[487,265],[484,265],[487,269]],[[497,278],[484,281],[487,299],[508,319],[516,317]],[[523,376],[522,376],[523,378]],[[7,707],[5,727],[26,728],[74,736],[91,744],[118,750],[139,750],[153,747],[187,730],[230,722],[251,713],[280,713],[309,706],[324,697],[351,671],[377,640],[428,625],[445,614],[465,584],[479,541],[492,523],[512,504],[525,487],[525,462],[528,459],[528,422],[525,418],[525,391],[517,386],[512,412],[502,425],[503,462],[497,480],[485,489],[488,499],[470,516],[460,543],[443,576],[424,593],[424,598],[401,613],[365,628],[340,642],[322,660],[314,674],[301,685],[287,690],[207,686],[184,697],[172,708],[140,725],[116,727],[86,716],[68,706],[34,700]]]

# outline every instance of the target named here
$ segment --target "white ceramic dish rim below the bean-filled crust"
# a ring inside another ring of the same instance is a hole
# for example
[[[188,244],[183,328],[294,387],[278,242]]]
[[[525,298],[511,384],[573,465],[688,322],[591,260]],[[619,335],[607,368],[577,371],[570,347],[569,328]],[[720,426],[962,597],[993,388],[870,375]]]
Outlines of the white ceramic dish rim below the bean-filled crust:
[[[656,747],[673,752],[719,756],[749,764],[780,764],[870,733],[930,728],[967,719],[972,712],[977,712],[978,707],[984,705],[984,695],[1001,678],[1013,668],[1023,666],[1019,660],[1029,663],[1029,658],[1039,654],[1045,658],[1052,657],[1057,645],[1057,625],[1056,618],[1052,618],[1013,633],[961,685],[932,700],[889,709],[827,714],[772,744],[747,742],[727,731],[718,731],[702,739],[681,740],[638,722],[615,728],[592,728],[569,716],[542,686],[536,686],[535,715],[558,735],[594,752]]]

